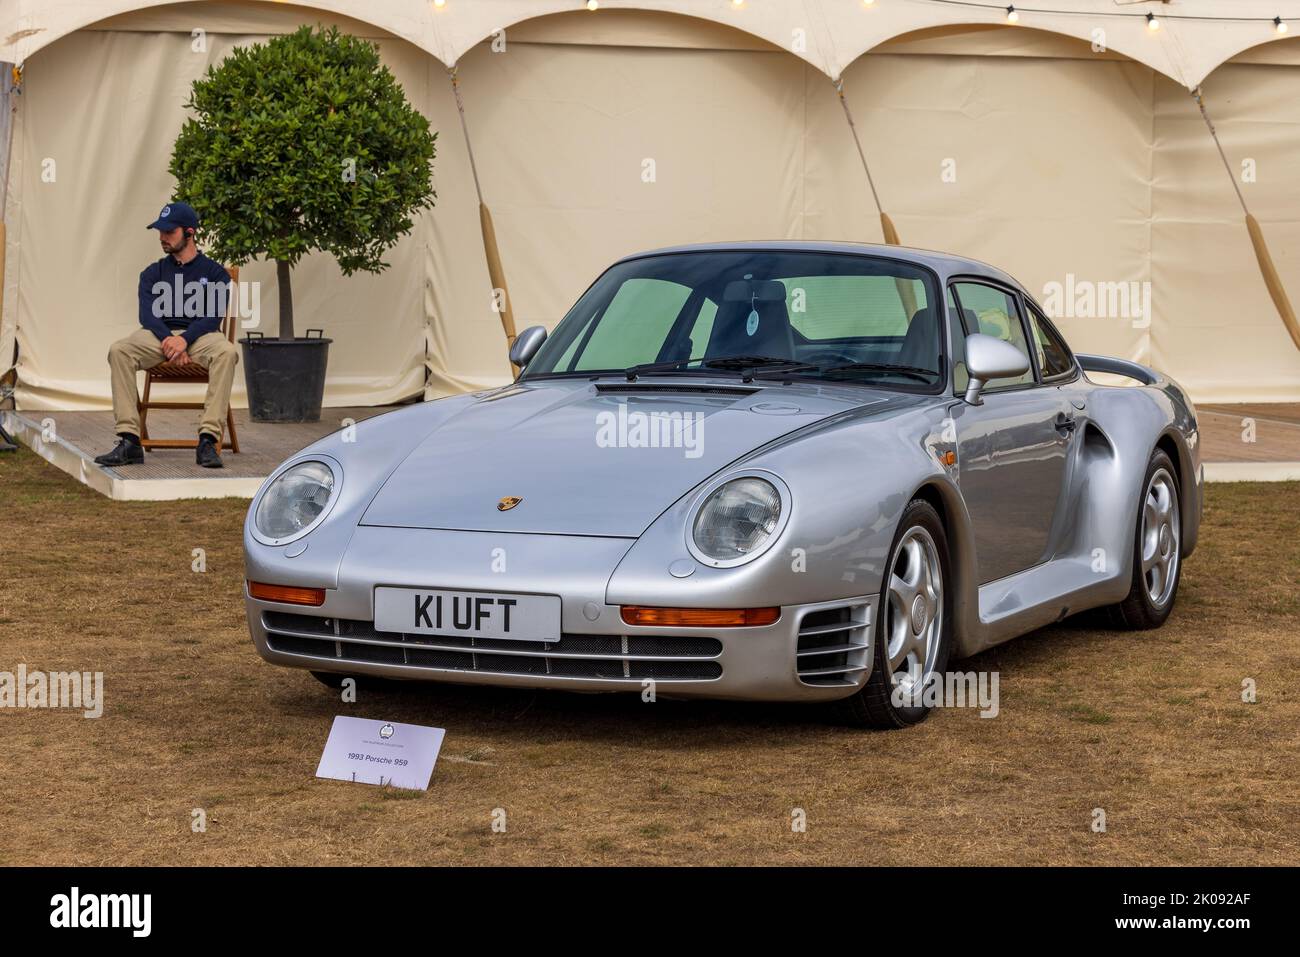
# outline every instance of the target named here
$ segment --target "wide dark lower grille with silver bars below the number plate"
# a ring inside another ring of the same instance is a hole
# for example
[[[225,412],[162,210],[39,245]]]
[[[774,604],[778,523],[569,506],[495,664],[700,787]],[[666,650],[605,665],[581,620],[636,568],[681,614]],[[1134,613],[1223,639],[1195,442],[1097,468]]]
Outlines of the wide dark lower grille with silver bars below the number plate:
[[[658,635],[562,635],[559,641],[463,638],[377,632],[373,622],[282,611],[261,616],[273,651],[347,662],[410,664],[491,675],[550,675],[642,681],[722,677],[718,638]]]

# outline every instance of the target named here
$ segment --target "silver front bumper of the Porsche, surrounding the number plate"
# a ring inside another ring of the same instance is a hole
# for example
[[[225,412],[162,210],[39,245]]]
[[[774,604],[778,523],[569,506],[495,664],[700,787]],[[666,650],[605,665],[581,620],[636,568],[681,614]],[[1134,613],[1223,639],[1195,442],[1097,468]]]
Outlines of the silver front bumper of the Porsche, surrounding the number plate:
[[[248,631],[257,653],[274,664],[459,684],[642,693],[653,683],[664,697],[833,701],[867,680],[875,597],[786,605],[776,623],[763,627],[628,625],[604,593],[629,545],[361,528],[324,605],[304,609],[246,593]],[[259,549],[248,555],[248,576],[283,580],[276,566],[291,560]],[[503,555],[508,573],[489,571]],[[558,594],[562,636],[543,644],[377,632],[378,585]]]

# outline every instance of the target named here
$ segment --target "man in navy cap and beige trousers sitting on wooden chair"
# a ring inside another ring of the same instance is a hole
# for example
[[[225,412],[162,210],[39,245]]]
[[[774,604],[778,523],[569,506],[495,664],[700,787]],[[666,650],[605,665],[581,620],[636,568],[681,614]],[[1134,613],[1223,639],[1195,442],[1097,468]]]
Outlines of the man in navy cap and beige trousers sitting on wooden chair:
[[[194,244],[198,226],[199,215],[186,203],[162,207],[159,218],[146,226],[159,231],[166,255],[140,273],[140,328],[108,350],[113,415],[121,441],[113,451],[95,459],[101,465],[144,462],[135,373],[166,360],[178,365],[199,363],[208,369],[195,462],[204,468],[221,468],[217,450],[239,351],[221,334],[226,296],[233,293],[230,273],[199,252]]]

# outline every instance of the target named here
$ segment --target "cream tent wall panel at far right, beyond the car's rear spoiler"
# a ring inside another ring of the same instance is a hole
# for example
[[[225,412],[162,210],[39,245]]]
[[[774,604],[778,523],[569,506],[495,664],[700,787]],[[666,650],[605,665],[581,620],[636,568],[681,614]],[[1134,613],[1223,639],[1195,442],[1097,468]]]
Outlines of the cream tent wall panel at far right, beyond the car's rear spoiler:
[[[1279,78],[1278,70],[1287,70]],[[1264,229],[1292,303],[1300,302],[1300,99],[1295,68],[1230,64],[1205,105]],[[1269,298],[1214,142],[1186,90],[1157,78],[1150,361],[1200,402],[1295,402],[1300,352]],[[1243,181],[1243,163],[1254,181]]]

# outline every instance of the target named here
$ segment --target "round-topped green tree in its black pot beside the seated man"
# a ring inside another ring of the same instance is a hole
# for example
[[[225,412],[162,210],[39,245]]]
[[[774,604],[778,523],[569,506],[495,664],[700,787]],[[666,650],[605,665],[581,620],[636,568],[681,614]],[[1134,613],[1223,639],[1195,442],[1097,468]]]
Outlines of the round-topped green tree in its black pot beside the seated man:
[[[250,415],[317,421],[330,339],[295,335],[290,270],[313,250],[344,276],[385,269],[384,252],[433,205],[437,134],[377,47],[335,27],[235,47],[186,105],[177,199],[200,211],[218,261],[276,263],[280,335],[240,339]]]

